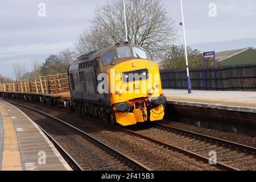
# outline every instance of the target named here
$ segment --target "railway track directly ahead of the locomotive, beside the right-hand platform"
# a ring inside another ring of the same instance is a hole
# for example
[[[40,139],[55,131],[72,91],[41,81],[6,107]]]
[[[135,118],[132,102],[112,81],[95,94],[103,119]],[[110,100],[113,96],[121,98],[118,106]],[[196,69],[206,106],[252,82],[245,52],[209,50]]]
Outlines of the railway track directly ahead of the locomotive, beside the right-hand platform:
[[[207,135],[193,133],[161,124],[155,124],[147,129],[126,130],[162,146],[176,148],[188,155],[209,160],[209,152],[217,154],[217,165],[231,170],[255,170],[256,148],[230,142]]]

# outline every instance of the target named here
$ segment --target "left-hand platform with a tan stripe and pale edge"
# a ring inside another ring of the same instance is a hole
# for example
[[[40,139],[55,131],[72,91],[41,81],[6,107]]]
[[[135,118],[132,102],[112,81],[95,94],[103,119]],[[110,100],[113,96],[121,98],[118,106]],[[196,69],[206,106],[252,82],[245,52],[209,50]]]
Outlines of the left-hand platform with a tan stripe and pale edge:
[[[22,111],[0,100],[0,170],[70,171],[55,146]]]

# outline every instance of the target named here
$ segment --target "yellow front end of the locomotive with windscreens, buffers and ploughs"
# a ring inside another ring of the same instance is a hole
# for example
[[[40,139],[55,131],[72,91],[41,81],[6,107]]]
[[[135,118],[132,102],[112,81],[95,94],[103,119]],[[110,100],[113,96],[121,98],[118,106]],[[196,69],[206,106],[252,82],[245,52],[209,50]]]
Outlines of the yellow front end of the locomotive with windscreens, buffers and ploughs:
[[[119,46],[115,51],[118,59],[123,60],[113,61],[106,71],[114,110],[112,119],[122,126],[162,120],[166,97],[158,64],[138,46]]]

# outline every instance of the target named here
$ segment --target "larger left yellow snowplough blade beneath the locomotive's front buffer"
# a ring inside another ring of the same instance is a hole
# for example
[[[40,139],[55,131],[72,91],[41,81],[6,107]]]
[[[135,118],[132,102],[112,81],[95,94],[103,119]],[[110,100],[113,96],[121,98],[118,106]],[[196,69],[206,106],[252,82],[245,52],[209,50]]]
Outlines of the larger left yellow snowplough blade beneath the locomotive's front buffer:
[[[122,126],[135,125],[137,120],[133,113],[115,113],[117,123]]]

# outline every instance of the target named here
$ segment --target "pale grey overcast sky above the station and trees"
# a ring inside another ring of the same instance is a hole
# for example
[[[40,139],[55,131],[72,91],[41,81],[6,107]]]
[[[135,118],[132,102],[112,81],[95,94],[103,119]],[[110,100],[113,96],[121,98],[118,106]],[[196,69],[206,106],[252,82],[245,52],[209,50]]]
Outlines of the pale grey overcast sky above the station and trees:
[[[129,0],[126,0],[129,3]],[[13,77],[13,64],[31,69],[32,61],[44,61],[52,53],[72,48],[80,32],[90,26],[94,8],[106,0],[1,0],[0,74]],[[38,16],[39,3],[46,4],[46,17]],[[178,39],[179,0],[163,0],[175,20]],[[217,5],[217,16],[209,16],[209,4]],[[187,46],[201,51],[256,47],[255,0],[183,0]],[[239,40],[237,40],[239,39]]]

